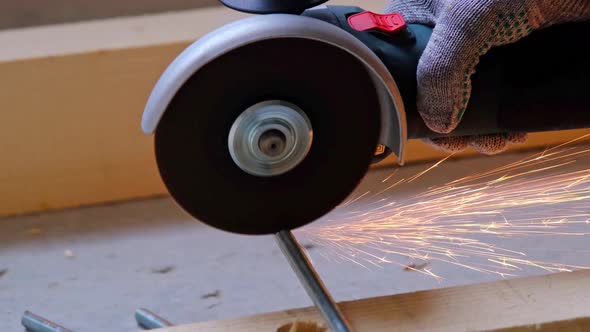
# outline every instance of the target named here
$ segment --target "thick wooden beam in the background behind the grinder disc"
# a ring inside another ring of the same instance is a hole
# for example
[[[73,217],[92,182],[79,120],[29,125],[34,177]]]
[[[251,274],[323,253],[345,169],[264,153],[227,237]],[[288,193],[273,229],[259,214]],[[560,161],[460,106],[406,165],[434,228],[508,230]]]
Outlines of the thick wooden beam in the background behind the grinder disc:
[[[218,7],[0,31],[0,216],[166,194],[140,130],[148,95],[191,41],[245,16]],[[537,135],[527,147],[579,135]],[[442,155],[420,142],[408,152]]]

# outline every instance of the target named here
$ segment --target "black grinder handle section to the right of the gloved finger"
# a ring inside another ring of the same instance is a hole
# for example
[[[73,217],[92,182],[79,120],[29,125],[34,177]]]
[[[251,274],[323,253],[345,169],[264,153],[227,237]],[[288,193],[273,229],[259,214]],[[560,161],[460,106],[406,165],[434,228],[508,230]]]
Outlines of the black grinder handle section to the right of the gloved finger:
[[[590,22],[568,23],[491,49],[472,76],[469,106],[453,135],[590,127],[588,36]],[[417,127],[414,135],[428,132]]]

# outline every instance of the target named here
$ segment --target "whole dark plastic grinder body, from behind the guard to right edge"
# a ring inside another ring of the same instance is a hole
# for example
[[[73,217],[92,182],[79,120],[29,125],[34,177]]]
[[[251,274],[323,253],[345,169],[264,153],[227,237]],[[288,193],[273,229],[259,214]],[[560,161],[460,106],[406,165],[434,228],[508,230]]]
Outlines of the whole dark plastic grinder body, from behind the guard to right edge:
[[[440,134],[426,127],[416,109],[416,69],[432,27],[409,24],[406,32],[393,36],[359,32],[347,18],[361,11],[330,6],[303,15],[348,31],[383,61],[404,100],[408,138],[590,127],[590,22],[552,26],[492,48],[471,77],[471,98],[461,123]]]

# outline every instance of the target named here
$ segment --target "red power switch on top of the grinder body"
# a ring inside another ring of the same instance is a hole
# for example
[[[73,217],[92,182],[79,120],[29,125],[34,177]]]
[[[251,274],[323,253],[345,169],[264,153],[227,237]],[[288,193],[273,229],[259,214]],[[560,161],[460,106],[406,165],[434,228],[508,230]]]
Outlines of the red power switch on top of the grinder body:
[[[370,11],[348,17],[348,24],[357,31],[381,31],[398,33],[406,28],[406,21],[400,13],[375,14]]]

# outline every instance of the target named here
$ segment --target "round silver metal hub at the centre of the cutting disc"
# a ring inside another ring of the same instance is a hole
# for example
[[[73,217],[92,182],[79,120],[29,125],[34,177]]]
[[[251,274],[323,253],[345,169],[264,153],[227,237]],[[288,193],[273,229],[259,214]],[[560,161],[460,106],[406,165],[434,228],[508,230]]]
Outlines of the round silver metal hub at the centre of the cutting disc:
[[[297,166],[311,147],[313,131],[296,105],[270,100],[257,103],[236,119],[228,148],[242,170],[256,176],[276,176]]]

